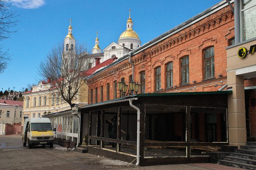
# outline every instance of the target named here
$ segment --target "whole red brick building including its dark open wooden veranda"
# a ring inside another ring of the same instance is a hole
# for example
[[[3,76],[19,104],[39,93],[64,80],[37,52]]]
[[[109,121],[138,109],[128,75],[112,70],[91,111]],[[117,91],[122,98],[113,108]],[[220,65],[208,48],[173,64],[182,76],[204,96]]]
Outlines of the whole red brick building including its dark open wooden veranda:
[[[80,108],[89,124],[82,132],[88,134],[88,152],[125,161],[137,153],[140,165],[208,161],[200,157],[203,146],[228,144],[232,91],[222,90],[227,90],[226,47],[233,40],[233,12],[222,1],[88,76],[90,105]],[[118,82],[132,80],[141,85],[139,94],[119,98]],[[115,116],[111,139],[105,119]],[[111,147],[104,141],[116,143],[116,153],[107,153]],[[137,145],[137,152],[127,144]]]

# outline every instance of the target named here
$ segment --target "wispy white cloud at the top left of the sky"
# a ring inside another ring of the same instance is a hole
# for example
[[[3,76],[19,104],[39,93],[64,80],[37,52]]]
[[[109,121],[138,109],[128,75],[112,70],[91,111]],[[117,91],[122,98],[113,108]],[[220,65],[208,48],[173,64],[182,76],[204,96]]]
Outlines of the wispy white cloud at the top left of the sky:
[[[45,4],[44,0],[10,0],[13,6],[25,9],[39,8]]]

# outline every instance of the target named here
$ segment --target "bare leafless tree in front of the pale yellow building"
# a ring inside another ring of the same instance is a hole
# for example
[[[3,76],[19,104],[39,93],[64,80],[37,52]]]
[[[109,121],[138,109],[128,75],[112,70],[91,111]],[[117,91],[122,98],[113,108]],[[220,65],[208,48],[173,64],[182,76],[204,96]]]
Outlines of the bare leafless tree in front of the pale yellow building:
[[[83,73],[91,62],[87,54],[85,45],[76,45],[73,50],[66,51],[64,44],[60,44],[52,48],[38,68],[38,73],[43,79],[50,79],[50,91],[54,93],[57,89],[58,94],[70,107],[73,105],[73,99],[84,92]]]

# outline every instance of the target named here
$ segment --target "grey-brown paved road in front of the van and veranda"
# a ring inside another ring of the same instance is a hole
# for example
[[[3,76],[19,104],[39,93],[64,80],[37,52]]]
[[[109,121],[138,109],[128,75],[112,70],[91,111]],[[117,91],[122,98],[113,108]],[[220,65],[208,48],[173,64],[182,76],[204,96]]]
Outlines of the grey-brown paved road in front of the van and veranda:
[[[23,147],[21,136],[0,135],[0,170],[241,170],[217,164],[177,164],[136,167],[90,153],[67,151],[54,145]]]

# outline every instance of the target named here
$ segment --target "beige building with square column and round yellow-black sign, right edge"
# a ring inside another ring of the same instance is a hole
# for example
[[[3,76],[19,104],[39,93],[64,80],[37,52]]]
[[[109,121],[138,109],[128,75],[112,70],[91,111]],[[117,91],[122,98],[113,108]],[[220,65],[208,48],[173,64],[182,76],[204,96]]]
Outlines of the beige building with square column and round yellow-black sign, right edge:
[[[230,145],[256,137],[256,1],[235,0],[235,40],[227,47]]]

